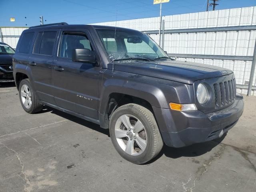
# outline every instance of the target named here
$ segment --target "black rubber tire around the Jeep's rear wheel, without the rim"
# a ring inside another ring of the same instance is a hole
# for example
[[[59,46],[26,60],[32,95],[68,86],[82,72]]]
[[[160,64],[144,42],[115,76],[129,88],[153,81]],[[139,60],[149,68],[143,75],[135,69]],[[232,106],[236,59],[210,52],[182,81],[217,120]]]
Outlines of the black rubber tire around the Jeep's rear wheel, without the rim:
[[[31,101],[32,101],[32,104],[30,105],[29,108],[26,108],[22,102],[22,96],[21,96],[21,88],[22,88],[22,85],[26,85],[28,86],[30,92],[31,92]],[[21,106],[22,108],[27,112],[27,113],[37,113],[37,112],[40,112],[42,111],[43,109],[43,104],[39,103],[38,102],[38,98],[36,97],[36,94],[34,92],[34,90],[32,89],[32,86],[30,84],[30,80],[29,79],[23,79],[20,84],[19,84],[19,97],[20,97],[20,103],[21,103]]]

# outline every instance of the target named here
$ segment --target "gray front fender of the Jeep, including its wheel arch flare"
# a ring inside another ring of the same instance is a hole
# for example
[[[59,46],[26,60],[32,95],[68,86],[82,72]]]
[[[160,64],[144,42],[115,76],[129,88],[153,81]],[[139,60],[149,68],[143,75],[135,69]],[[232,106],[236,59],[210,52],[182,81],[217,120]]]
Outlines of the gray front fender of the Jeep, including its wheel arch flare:
[[[192,85],[127,72],[105,70],[99,85],[99,113],[104,122],[107,120],[104,115],[109,96],[112,93],[144,99],[149,102],[153,109],[170,109],[170,102],[183,104],[194,102]],[[155,114],[155,116],[156,120],[159,121],[161,114]],[[106,127],[106,125],[102,127]]]

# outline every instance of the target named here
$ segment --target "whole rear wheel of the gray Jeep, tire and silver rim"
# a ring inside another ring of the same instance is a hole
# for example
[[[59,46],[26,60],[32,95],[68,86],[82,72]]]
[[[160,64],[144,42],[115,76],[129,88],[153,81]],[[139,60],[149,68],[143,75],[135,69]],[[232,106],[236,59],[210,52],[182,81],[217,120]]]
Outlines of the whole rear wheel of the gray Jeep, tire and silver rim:
[[[29,79],[23,79],[19,85],[20,103],[28,113],[40,112],[43,104],[38,102],[36,94],[30,85]]]

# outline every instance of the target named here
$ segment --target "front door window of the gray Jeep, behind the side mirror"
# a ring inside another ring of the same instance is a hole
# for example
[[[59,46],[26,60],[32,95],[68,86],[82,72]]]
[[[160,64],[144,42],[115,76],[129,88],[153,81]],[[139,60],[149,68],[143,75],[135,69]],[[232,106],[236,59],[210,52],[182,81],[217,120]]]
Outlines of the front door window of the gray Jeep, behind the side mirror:
[[[92,47],[85,34],[64,32],[61,37],[59,57],[71,59],[74,49],[92,50]]]

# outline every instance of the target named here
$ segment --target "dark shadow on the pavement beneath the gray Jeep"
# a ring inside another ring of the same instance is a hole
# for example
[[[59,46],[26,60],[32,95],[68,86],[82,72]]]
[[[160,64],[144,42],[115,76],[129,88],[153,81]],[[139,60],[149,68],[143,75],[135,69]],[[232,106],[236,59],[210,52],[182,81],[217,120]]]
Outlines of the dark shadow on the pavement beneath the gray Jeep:
[[[96,131],[103,133],[103,134],[107,135],[108,137],[110,137],[109,130],[100,128],[100,126],[98,124],[94,124],[92,122],[83,120],[81,118],[72,116],[65,112],[50,108],[48,106],[44,106],[44,110],[46,112],[50,111],[52,114],[56,114],[58,116],[66,118],[72,122],[78,123],[82,126],[86,126],[90,129],[96,130]],[[224,134],[221,138],[218,138],[218,139],[215,139],[212,141],[193,144],[193,145],[182,147],[182,148],[173,148],[173,147],[168,147],[168,146],[164,145],[161,152],[154,159],[150,160],[146,164],[150,164],[150,163],[156,161],[158,158],[160,158],[163,155],[165,155],[166,157],[169,157],[169,158],[173,158],[173,159],[180,158],[180,157],[196,157],[196,156],[203,155],[207,152],[210,152],[214,147],[216,147],[218,144],[220,144],[220,142],[222,142],[222,140],[225,138],[225,136],[226,136],[226,134]]]

